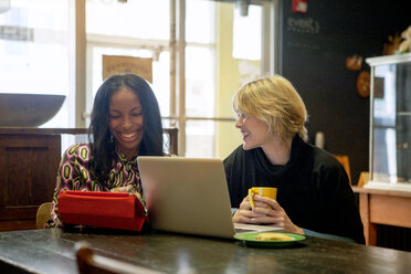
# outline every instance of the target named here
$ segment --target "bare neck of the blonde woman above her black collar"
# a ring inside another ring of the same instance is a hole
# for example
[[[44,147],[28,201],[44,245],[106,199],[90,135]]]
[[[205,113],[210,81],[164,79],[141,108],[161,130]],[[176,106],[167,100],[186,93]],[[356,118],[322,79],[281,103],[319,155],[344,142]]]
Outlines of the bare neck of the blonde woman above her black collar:
[[[291,156],[292,140],[284,141],[278,137],[262,147],[265,156],[272,165],[285,166]]]

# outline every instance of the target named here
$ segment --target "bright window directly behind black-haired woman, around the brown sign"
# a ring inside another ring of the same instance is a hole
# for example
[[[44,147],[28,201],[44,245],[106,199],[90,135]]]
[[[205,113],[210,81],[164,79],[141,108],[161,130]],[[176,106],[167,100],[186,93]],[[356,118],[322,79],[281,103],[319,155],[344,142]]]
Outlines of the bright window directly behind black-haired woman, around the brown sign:
[[[162,116],[170,114],[169,0],[86,2],[87,113],[103,82],[103,55],[152,57],[152,83]],[[161,7],[161,9],[158,9]],[[122,14],[119,17],[119,14]],[[89,120],[87,119],[87,125]]]

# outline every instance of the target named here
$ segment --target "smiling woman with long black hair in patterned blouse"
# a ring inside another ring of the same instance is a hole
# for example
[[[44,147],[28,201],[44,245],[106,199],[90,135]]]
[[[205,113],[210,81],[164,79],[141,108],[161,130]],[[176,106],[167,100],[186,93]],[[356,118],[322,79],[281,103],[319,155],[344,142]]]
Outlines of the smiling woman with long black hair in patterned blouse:
[[[137,156],[162,156],[162,126],[156,96],[134,74],[108,77],[94,99],[89,144],[67,148],[60,164],[51,219],[46,226],[63,226],[57,212],[65,190],[130,192],[143,190]]]

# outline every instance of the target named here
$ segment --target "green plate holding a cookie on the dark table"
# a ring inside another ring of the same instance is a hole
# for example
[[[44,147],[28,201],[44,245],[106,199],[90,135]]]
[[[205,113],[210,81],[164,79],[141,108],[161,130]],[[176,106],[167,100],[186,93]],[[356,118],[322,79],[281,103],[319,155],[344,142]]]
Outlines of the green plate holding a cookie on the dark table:
[[[293,238],[291,241],[280,241],[280,240],[268,240],[268,241],[262,241],[262,240],[256,240],[255,236],[261,234],[261,233],[266,233],[266,232],[247,232],[247,233],[240,233],[235,234],[234,238],[239,240],[241,243],[243,243],[246,246],[253,246],[253,247],[283,247],[287,245],[292,245],[296,242],[305,240],[304,235],[299,234],[293,234],[293,233],[281,233],[281,232],[275,232],[275,233],[281,233],[284,235],[288,235]]]

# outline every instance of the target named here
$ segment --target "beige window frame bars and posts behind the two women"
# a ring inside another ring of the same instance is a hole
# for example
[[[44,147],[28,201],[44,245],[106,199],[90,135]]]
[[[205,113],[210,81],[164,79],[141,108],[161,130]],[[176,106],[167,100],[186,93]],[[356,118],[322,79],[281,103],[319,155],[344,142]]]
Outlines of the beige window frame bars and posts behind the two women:
[[[187,43],[186,42],[186,0],[170,0],[170,41],[165,44],[160,40],[141,40],[133,38],[105,36],[98,34],[86,34],[86,0],[74,1],[75,18],[75,42],[73,46],[74,62],[73,83],[71,91],[75,91],[75,127],[86,127],[89,118],[91,106],[93,105],[93,91],[91,64],[93,46],[113,46],[135,49],[137,45],[160,43],[165,50],[170,52],[170,115],[161,117],[170,123],[170,126],[179,128],[178,147],[179,155],[186,155],[186,125],[188,120],[212,120],[217,123],[233,122],[233,117],[192,117],[186,116],[186,48],[196,46],[214,46],[212,44]],[[277,70],[277,46],[276,46],[276,25],[277,25],[277,7],[278,0],[262,1],[253,0],[251,4],[260,4],[263,8],[263,41],[262,41],[262,74],[274,74]],[[179,41],[179,43],[177,43]],[[177,89],[179,94],[177,94]],[[217,89],[217,88],[215,88]],[[218,94],[217,94],[218,96]],[[179,102],[177,103],[177,98]]]

